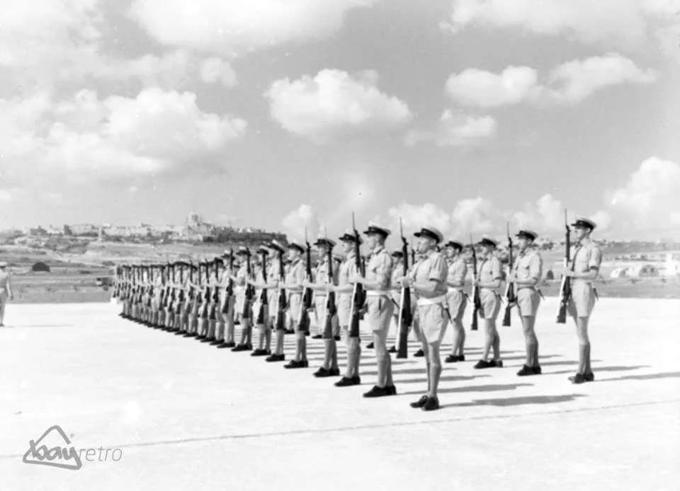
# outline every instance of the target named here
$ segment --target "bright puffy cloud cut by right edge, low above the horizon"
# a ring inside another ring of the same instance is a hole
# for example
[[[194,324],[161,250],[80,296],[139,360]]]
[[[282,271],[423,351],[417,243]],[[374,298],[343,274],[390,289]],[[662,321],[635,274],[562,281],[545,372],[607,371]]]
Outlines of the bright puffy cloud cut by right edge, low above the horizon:
[[[624,187],[611,194],[611,209],[642,231],[677,227],[680,214],[680,163],[647,158]]]

